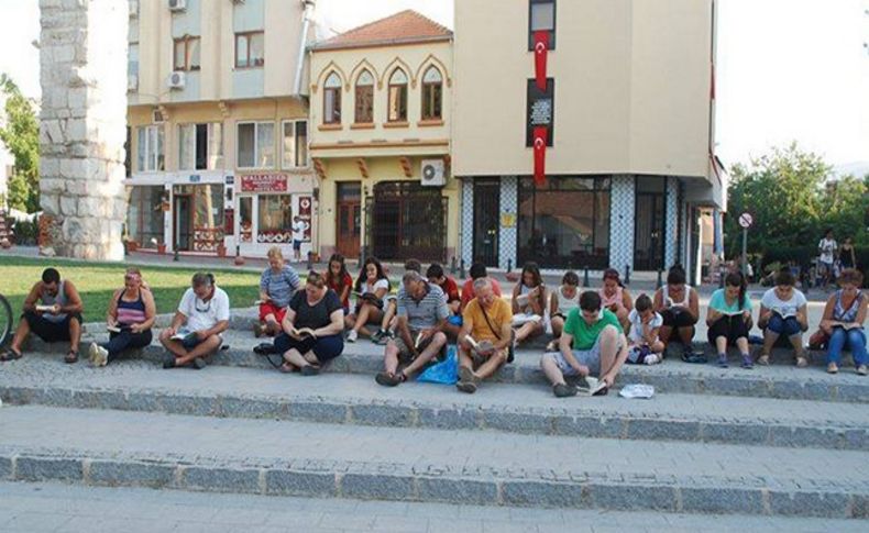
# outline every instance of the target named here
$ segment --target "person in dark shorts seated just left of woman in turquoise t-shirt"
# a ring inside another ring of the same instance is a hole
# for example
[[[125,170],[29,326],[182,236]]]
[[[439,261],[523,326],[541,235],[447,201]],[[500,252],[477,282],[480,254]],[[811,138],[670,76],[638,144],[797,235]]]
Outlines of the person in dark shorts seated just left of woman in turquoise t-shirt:
[[[695,355],[695,325],[700,319],[700,298],[697,291],[686,284],[685,270],[681,265],[673,265],[667,273],[667,285],[654,291],[652,299],[654,312],[663,319],[659,332],[664,344],[662,355],[667,355],[667,346],[678,342],[682,344],[682,359],[700,362],[704,356]]]

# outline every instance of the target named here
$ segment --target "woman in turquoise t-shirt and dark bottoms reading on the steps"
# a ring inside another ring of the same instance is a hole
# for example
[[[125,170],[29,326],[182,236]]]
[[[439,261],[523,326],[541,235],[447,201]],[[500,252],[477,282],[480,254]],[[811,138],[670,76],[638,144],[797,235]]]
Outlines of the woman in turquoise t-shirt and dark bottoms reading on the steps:
[[[748,332],[751,331],[751,299],[746,295],[746,280],[740,273],[730,273],[724,288],[712,293],[706,310],[706,336],[718,354],[718,366],[727,368],[727,346],[734,344],[743,355],[743,368],[754,363],[748,353]]]

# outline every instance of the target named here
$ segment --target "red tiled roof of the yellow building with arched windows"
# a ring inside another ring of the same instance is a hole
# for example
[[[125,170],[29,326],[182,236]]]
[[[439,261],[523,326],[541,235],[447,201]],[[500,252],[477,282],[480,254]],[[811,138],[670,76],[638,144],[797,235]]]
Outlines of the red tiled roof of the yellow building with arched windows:
[[[312,48],[316,51],[359,48],[449,41],[450,38],[452,38],[452,32],[448,27],[408,9],[317,43]]]

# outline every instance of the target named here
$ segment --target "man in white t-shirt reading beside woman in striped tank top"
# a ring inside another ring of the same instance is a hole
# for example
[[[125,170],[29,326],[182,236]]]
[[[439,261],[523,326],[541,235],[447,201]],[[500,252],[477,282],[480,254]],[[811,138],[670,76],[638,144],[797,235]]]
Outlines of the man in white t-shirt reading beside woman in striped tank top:
[[[193,365],[201,370],[206,357],[220,349],[220,334],[229,329],[229,296],[215,285],[215,276],[196,273],[190,285],[172,325],[160,333],[160,342],[169,352],[163,368]]]

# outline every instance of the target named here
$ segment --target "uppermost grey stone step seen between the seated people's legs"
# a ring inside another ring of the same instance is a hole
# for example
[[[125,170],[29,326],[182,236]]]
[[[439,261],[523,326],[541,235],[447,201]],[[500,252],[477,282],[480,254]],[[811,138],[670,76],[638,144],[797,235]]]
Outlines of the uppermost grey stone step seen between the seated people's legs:
[[[86,337],[87,343],[107,336],[100,334]],[[263,356],[252,352],[253,346],[265,338],[254,338],[252,334],[230,330],[224,335],[228,349],[220,351],[211,358],[217,366],[235,366],[251,368],[272,368]],[[40,353],[63,354],[66,345],[46,345],[33,342],[32,349]],[[341,374],[365,374],[374,376],[383,366],[383,346],[369,341],[346,344],[344,353],[334,360],[328,371]],[[495,377],[497,382],[546,384],[540,371],[539,360],[542,352],[519,349],[516,360],[505,366]],[[59,355],[53,355],[59,358]],[[166,352],[158,341],[140,353],[131,353],[132,358],[160,363]],[[751,370],[738,368],[737,359],[733,359],[730,368],[722,369],[711,359],[706,365],[692,365],[679,359],[667,359],[654,366],[626,365],[618,382],[642,382],[656,387],[659,392],[683,395],[740,396],[752,398],[779,398],[788,400],[821,400],[853,403],[869,403],[869,378],[857,376],[851,368],[844,367],[838,375],[826,374],[822,368],[796,368],[789,359],[774,360],[769,367],[756,366]],[[8,364],[7,364],[8,365]]]

